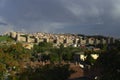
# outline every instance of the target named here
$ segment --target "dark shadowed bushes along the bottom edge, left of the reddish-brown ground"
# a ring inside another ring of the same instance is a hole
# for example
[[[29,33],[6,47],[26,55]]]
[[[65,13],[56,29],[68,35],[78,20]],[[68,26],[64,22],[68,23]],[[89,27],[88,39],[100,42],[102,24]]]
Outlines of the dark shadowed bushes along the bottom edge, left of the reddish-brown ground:
[[[66,80],[72,72],[69,65],[45,65],[35,70],[29,68],[20,80]]]

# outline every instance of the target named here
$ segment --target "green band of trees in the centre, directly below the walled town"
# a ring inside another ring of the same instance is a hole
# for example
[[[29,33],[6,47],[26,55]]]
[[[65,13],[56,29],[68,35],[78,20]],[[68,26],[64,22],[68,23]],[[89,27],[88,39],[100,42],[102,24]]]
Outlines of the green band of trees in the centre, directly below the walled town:
[[[80,48],[64,47],[63,44],[61,44],[59,48],[53,47],[52,45],[52,43],[46,42],[34,45],[32,54],[34,60],[41,57],[41,60],[50,60],[51,63],[61,63],[63,60],[73,61],[74,53],[81,51]],[[38,57],[39,54],[41,54],[41,56]]]

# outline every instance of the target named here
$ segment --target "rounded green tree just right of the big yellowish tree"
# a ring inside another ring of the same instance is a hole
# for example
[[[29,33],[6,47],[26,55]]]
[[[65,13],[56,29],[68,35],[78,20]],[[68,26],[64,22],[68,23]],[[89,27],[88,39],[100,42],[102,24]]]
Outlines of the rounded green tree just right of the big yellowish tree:
[[[38,45],[34,45],[32,50],[32,59],[33,60],[48,60],[49,54],[53,51],[53,44],[47,42],[40,42]],[[40,55],[40,56],[39,56]],[[41,57],[41,59],[40,59]]]

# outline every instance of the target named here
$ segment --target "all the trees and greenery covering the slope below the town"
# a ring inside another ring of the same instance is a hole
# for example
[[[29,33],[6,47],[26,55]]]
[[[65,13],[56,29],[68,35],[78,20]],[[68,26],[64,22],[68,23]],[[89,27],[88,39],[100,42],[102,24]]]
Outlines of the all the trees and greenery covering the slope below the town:
[[[0,41],[11,41],[2,36]],[[98,80],[120,80],[120,42],[109,45],[96,45],[101,51],[74,47],[53,47],[52,43],[40,42],[28,50],[21,43],[0,45],[0,80],[66,80],[73,72],[62,61],[74,61],[74,53],[84,51],[85,64],[90,65],[91,75]],[[91,54],[99,54],[97,60]],[[31,66],[31,62],[50,61],[49,65]],[[59,64],[56,64],[59,63]],[[98,72],[96,71],[98,70]],[[94,72],[93,72],[94,71]],[[95,73],[96,72],[96,73]],[[58,78],[59,77],[59,78]]]

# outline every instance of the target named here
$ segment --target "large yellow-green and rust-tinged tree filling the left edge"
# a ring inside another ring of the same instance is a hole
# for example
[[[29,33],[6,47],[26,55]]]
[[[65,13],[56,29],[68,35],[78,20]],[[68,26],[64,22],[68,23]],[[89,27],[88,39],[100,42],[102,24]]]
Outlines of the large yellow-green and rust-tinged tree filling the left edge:
[[[17,80],[16,74],[21,72],[24,68],[21,65],[25,66],[23,63],[29,61],[30,56],[30,51],[22,47],[21,43],[0,46],[0,77]]]

